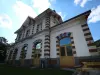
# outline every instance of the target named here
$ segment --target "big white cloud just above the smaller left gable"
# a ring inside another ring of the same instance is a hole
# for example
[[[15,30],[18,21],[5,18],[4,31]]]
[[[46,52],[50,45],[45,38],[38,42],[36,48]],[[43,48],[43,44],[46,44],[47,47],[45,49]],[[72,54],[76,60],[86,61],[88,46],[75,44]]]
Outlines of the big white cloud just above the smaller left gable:
[[[22,1],[16,1],[16,3],[13,6],[13,9],[16,15],[20,18],[22,23],[27,18],[27,16],[31,16],[33,18],[37,16],[33,8],[23,3]]]

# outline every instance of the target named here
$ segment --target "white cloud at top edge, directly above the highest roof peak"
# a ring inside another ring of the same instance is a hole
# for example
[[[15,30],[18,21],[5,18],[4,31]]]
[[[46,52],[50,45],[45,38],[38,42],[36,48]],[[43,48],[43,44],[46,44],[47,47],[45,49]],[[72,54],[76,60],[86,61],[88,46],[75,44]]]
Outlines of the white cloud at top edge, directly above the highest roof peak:
[[[50,6],[51,6],[50,0],[33,0],[33,8],[36,8],[39,14],[44,10],[46,10],[47,8],[49,8]]]

